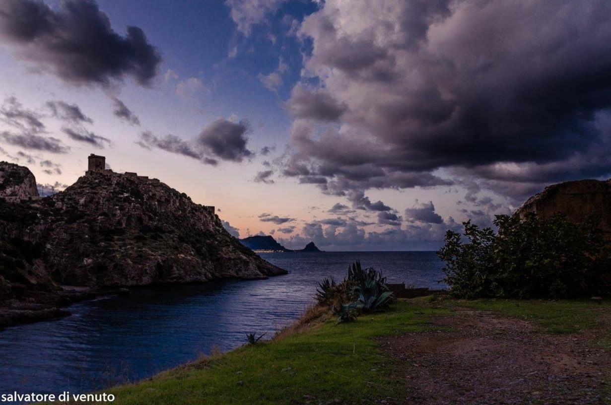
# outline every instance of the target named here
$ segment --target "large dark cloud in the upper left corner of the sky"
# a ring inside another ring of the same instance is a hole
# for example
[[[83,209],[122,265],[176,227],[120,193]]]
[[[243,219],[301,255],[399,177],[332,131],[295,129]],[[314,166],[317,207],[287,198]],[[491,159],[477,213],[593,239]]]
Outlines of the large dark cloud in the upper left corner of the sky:
[[[142,29],[126,31],[117,34],[93,0],[64,0],[58,9],[40,0],[0,2],[0,40],[20,59],[75,84],[108,86],[125,76],[150,84],[161,56]]]

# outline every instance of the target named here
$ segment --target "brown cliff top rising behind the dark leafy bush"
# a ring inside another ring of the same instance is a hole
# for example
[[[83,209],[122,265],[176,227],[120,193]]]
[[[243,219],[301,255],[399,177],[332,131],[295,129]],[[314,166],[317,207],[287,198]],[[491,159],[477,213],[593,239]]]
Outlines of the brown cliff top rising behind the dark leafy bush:
[[[516,214],[536,213],[551,217],[565,214],[573,222],[595,219],[599,227],[611,238],[611,180],[577,180],[547,186],[530,197]]]

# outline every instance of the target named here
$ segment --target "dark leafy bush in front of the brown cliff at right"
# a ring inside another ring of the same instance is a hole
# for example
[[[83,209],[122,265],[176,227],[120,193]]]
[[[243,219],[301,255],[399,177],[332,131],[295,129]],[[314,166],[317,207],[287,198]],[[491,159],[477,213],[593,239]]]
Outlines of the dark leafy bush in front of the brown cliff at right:
[[[448,230],[437,255],[452,294],[478,297],[587,297],[609,293],[611,254],[591,222],[497,215],[499,228],[464,222],[464,238]]]

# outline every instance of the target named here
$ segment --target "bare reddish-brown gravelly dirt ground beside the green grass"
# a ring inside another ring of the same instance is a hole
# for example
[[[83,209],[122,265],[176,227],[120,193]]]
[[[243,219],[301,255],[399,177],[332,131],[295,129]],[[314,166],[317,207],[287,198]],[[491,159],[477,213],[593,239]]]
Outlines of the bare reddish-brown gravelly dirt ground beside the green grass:
[[[381,340],[412,387],[408,404],[611,404],[611,354],[591,345],[595,332],[543,334],[473,310],[434,324]]]

